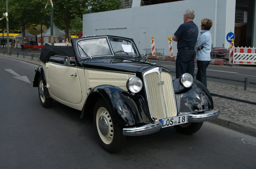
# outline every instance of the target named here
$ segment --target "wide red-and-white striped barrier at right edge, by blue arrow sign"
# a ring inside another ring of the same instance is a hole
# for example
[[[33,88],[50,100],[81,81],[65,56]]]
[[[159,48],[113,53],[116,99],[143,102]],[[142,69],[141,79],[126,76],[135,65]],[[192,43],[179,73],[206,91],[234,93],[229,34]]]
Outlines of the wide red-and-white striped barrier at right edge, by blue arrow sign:
[[[234,48],[233,52],[233,64],[243,65],[256,65],[256,48]],[[230,56],[231,56],[230,50]]]

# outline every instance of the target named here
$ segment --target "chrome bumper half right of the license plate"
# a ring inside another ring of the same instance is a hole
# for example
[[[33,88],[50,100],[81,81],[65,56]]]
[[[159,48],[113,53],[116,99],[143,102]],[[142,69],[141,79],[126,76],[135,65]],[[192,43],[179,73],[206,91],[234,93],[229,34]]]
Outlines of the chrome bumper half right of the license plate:
[[[214,111],[203,113],[203,114],[189,114],[188,121],[193,123],[199,123],[204,121],[209,121],[214,118],[217,118],[220,115],[220,110],[216,109]]]

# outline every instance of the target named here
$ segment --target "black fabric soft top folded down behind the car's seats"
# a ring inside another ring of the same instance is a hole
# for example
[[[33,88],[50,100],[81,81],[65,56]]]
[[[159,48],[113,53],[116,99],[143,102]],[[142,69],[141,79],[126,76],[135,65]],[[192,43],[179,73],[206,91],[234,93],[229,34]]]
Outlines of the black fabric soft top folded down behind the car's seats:
[[[75,56],[72,46],[52,46],[49,44],[45,44],[44,48],[42,48],[40,60],[46,63],[49,57],[54,55],[60,56]]]

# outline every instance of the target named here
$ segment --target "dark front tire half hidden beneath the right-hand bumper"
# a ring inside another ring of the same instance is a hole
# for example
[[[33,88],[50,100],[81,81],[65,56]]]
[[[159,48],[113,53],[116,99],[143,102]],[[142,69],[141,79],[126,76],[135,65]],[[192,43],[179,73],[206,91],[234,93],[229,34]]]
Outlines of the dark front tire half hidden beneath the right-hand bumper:
[[[177,130],[177,132],[180,132],[185,135],[192,135],[201,129],[203,123],[204,122],[200,122],[200,123],[191,123],[190,122],[190,123],[176,125],[174,127]]]

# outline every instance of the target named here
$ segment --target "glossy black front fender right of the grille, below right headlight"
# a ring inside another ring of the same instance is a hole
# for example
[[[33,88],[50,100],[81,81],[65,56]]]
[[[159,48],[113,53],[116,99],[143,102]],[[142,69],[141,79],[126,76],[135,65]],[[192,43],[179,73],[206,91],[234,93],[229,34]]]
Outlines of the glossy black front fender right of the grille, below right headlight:
[[[180,85],[179,79],[175,79],[173,80],[173,87],[180,115],[195,110],[203,113],[214,108],[209,90],[198,80],[194,79],[192,86],[186,88]]]

